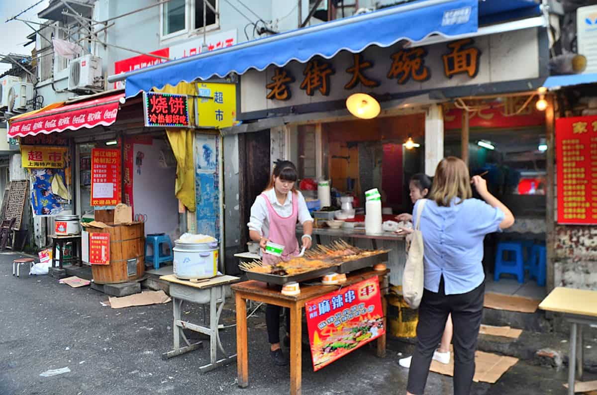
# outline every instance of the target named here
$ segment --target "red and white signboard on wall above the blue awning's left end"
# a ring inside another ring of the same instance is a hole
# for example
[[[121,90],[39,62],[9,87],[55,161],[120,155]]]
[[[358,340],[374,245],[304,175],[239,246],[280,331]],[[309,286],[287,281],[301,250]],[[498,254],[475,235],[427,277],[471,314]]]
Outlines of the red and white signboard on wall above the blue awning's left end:
[[[220,48],[232,47],[237,43],[236,29],[227,32],[219,32],[208,35],[205,44],[207,50],[219,50]],[[145,67],[154,66],[155,64],[164,63],[168,58],[170,60],[184,58],[201,53],[203,46],[203,36],[198,36],[195,39],[185,41],[181,44],[172,45],[171,47],[162,48],[150,52],[152,55],[158,55],[162,58],[153,57],[150,55],[139,55],[131,58],[119,60],[114,63],[114,73],[127,73],[133,70],[144,69]],[[124,88],[124,81],[118,81],[114,84],[114,88]]]

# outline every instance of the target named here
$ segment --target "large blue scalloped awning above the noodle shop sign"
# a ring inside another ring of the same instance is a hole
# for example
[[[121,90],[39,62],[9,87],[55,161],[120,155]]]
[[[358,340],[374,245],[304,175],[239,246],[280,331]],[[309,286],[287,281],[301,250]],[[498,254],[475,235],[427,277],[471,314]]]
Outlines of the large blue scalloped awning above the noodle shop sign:
[[[242,75],[292,60],[304,63],[314,56],[329,59],[343,50],[359,53],[370,45],[390,47],[398,41],[418,42],[429,36],[472,35],[478,31],[481,17],[534,8],[534,0],[420,0],[113,75],[108,81],[126,79],[126,97],[131,97],[181,81],[224,78],[232,72]]]

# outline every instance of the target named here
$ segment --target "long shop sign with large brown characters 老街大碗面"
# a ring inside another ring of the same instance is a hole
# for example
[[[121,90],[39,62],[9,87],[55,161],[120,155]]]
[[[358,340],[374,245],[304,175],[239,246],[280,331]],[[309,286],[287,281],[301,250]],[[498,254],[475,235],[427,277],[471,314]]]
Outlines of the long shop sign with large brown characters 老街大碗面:
[[[359,54],[341,51],[329,60],[249,70],[241,76],[241,113],[346,100],[355,92],[402,94],[534,79],[540,76],[538,48],[537,29],[521,29],[428,47],[371,45]]]

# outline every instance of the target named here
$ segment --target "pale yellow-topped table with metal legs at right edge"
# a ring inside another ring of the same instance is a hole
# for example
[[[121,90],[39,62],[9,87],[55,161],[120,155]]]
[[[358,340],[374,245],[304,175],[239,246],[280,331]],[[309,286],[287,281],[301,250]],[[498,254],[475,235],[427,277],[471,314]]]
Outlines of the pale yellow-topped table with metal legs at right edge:
[[[574,394],[576,376],[583,377],[583,327],[597,324],[597,291],[556,287],[539,304],[542,310],[561,313],[570,322],[568,395]],[[580,325],[579,325],[580,324]]]

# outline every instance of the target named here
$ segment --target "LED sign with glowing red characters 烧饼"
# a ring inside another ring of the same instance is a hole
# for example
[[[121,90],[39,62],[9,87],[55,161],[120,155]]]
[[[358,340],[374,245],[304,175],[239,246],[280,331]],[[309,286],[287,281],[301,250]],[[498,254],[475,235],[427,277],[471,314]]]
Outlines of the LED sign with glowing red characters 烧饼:
[[[189,126],[187,95],[143,92],[145,126],[186,128]]]

